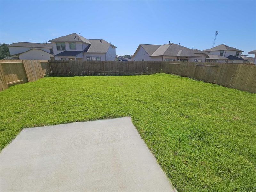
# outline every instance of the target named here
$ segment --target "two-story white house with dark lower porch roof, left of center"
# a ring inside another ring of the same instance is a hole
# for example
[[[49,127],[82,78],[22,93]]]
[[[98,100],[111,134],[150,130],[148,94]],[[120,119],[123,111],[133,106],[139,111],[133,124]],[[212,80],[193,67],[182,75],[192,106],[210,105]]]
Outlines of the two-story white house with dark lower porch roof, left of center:
[[[52,40],[55,60],[114,61],[116,46],[103,39],[86,39],[77,33]]]

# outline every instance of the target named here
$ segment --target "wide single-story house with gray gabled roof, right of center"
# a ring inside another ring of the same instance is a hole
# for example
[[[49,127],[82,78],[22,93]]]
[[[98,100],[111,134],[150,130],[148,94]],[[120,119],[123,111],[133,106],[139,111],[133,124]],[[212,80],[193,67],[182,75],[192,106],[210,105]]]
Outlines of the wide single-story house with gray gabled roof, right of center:
[[[178,44],[140,44],[132,56],[133,61],[189,61],[205,62],[208,55]]]

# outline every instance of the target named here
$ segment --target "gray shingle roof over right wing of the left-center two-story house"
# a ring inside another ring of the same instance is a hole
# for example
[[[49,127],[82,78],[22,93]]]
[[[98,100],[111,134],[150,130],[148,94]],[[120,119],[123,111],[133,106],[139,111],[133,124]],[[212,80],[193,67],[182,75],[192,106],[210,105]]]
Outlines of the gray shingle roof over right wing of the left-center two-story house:
[[[87,53],[106,53],[110,45],[115,47],[103,39],[89,39],[89,41],[91,45],[89,49],[85,51]]]

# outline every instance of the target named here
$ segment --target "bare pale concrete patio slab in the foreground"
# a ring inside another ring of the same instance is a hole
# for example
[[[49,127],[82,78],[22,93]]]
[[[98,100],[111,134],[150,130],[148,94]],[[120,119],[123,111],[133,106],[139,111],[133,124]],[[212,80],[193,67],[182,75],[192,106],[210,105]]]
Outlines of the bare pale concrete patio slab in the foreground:
[[[0,191],[174,191],[130,117],[24,129],[1,154]]]

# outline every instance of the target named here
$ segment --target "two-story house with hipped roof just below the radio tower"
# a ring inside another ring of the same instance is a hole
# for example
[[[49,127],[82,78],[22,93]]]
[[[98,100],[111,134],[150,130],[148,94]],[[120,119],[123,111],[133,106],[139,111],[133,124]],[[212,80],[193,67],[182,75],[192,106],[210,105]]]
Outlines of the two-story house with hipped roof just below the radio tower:
[[[209,58],[206,62],[226,62],[226,63],[243,63],[245,60],[241,58],[242,50],[227,45],[218,45],[211,49],[203,50],[204,53],[208,54]]]

